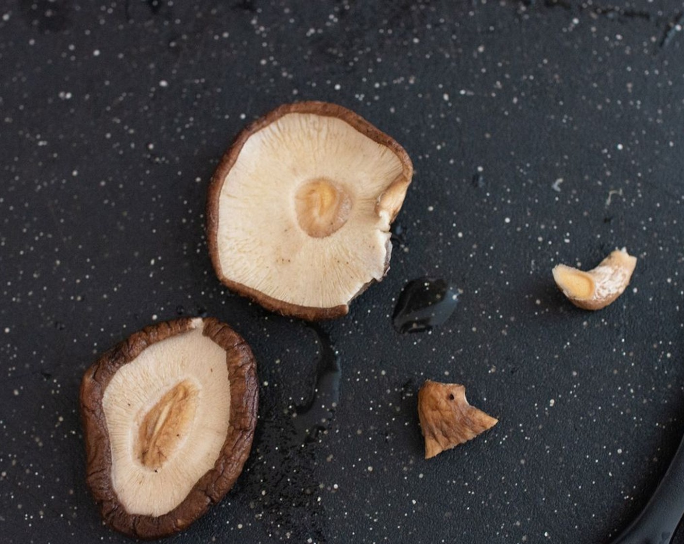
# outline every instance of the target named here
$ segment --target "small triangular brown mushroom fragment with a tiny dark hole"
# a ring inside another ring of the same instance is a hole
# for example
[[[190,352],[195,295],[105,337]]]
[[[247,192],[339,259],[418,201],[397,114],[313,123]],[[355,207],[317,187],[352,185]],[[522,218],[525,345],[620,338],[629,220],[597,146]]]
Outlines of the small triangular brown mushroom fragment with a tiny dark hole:
[[[418,391],[418,417],[426,459],[477,437],[499,422],[468,404],[464,386],[432,380],[425,381]]]

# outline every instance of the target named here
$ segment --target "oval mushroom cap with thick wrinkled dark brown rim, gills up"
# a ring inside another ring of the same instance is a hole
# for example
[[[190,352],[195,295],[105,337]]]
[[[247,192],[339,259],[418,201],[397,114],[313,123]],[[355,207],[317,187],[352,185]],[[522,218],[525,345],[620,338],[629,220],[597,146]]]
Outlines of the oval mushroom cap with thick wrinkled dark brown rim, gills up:
[[[81,383],[86,478],[105,523],[141,539],[183,530],[239,476],[257,422],[249,346],[225,324],[144,328]]]

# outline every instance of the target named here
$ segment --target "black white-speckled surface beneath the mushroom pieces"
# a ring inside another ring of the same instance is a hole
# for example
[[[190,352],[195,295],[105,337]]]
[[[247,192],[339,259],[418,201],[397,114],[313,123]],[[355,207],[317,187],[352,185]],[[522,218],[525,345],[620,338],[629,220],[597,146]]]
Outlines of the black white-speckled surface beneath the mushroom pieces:
[[[252,456],[170,542],[605,543],[684,431],[684,4],[679,0],[0,1],[0,541],[124,542],[84,484],[96,354],[206,312],[259,361]],[[276,105],[334,101],[393,135],[414,183],[389,276],[322,325],[339,406],[300,447],[315,330],[222,288],[205,192]],[[551,268],[627,246],[600,313]],[[463,293],[432,333],[419,276]],[[422,458],[425,378],[500,423]],[[684,542],[679,534],[674,542]]]

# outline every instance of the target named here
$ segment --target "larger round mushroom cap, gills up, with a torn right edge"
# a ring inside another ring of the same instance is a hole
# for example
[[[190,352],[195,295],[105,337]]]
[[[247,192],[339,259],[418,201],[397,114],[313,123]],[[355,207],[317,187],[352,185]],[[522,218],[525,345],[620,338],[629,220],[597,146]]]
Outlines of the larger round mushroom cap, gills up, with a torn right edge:
[[[339,105],[282,105],[242,131],[216,170],[207,236],[219,279],[306,320],[345,315],[389,268],[389,227],[413,167]]]

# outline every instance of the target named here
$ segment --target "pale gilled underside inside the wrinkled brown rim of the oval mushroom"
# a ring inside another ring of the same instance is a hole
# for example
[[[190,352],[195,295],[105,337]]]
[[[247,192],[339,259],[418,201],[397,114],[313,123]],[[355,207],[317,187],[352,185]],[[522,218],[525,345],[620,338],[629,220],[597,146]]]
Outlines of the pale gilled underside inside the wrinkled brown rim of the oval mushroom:
[[[128,513],[159,516],[185,499],[221,454],[230,405],[226,351],[199,326],[114,374],[103,409],[111,481]]]

